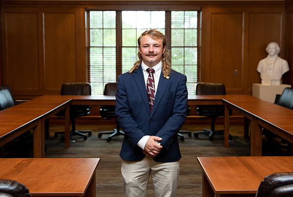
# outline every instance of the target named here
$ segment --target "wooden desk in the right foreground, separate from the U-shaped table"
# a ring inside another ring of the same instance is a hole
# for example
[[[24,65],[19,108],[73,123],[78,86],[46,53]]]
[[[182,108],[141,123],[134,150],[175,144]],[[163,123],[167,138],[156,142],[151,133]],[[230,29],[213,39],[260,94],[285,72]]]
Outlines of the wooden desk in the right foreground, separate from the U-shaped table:
[[[203,197],[255,197],[265,176],[293,172],[291,156],[197,157]]]

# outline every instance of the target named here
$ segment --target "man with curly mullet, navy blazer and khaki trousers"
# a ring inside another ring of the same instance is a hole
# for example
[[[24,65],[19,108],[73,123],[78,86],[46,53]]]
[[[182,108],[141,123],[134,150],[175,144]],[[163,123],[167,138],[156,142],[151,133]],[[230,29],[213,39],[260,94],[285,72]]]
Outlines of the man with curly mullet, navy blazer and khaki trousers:
[[[116,117],[125,132],[120,156],[126,197],[144,197],[149,175],[156,197],[176,196],[177,133],[186,120],[188,91],[187,77],[171,69],[166,45],[161,32],[145,31],[138,39],[139,60],[118,76]]]

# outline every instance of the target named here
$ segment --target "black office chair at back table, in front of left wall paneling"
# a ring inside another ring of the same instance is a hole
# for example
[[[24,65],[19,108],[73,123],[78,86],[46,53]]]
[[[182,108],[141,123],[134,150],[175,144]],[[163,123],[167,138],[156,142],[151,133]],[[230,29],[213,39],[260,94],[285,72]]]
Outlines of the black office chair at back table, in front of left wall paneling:
[[[61,87],[61,95],[91,95],[91,85],[86,82],[69,82],[64,83]],[[90,130],[85,131],[76,131],[75,119],[82,116],[87,116],[91,112],[91,106],[82,105],[82,106],[70,106],[70,120],[72,123],[70,135],[79,135],[84,137],[84,140],[87,140],[87,135],[91,136],[92,132]],[[55,114],[56,116],[63,117],[64,110]],[[58,134],[64,134],[62,132],[55,132],[54,136],[57,137]],[[64,141],[64,135],[61,137],[61,141]]]

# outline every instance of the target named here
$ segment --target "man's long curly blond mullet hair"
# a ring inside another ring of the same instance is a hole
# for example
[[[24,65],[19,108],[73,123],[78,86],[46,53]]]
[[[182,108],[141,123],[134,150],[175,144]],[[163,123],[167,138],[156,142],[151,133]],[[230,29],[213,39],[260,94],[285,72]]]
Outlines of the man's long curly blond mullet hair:
[[[138,38],[137,43],[139,47],[140,47],[143,36],[146,36],[146,35],[149,35],[152,39],[161,39],[163,43],[163,48],[167,46],[167,39],[164,34],[162,34],[160,31],[156,29],[149,29],[149,30],[146,30],[144,33],[142,33],[142,35]],[[138,69],[139,66],[142,64],[143,58],[140,52],[137,53],[137,56],[139,60],[136,63],[134,63],[134,66],[129,70],[129,73],[132,73],[134,70]],[[166,47],[165,52],[162,54],[163,77],[167,77],[170,74],[171,64],[169,62],[169,59],[170,59],[169,50],[167,50],[167,47]]]

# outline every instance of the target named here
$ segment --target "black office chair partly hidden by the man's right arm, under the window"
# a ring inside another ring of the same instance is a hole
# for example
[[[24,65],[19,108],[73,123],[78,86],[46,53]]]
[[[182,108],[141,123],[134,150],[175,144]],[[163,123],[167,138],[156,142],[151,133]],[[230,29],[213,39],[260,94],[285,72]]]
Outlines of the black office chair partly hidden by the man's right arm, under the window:
[[[117,83],[108,83],[105,85],[104,95],[114,96],[117,89]],[[103,117],[103,120],[109,120],[112,118],[116,118],[115,115],[115,106],[104,105],[101,106],[100,114]],[[106,139],[108,142],[111,141],[112,137],[117,135],[124,135],[123,131],[120,131],[120,125],[116,119],[116,129],[114,131],[103,131],[99,132],[98,137],[102,137],[102,134],[110,134]]]

